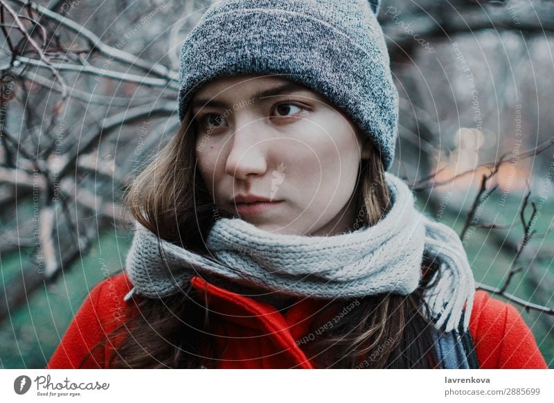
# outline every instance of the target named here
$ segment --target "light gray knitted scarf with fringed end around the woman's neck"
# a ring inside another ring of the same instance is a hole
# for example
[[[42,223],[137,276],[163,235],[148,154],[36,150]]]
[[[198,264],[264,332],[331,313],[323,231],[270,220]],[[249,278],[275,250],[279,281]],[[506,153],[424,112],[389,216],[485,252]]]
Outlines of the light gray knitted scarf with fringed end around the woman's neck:
[[[125,301],[134,293],[159,298],[184,292],[196,275],[281,296],[407,295],[420,283],[425,252],[440,265],[438,284],[425,294],[431,319],[447,332],[458,325],[467,330],[475,287],[460,238],[418,212],[401,179],[387,173],[386,181],[392,206],[373,226],[332,236],[281,235],[238,217],[220,218],[206,239],[208,258],[160,240],[136,223],[125,267],[134,288]]]

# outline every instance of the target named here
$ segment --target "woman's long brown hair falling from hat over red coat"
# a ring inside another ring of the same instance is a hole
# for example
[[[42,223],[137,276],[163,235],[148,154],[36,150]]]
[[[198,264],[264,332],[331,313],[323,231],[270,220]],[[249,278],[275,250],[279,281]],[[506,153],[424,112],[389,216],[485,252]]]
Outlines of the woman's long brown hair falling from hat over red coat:
[[[189,116],[189,115],[187,115]],[[196,169],[196,126],[185,118],[161,154],[139,174],[125,194],[129,213],[160,238],[206,253],[204,240],[215,220],[215,206]],[[391,198],[379,154],[361,160],[350,202],[359,214],[355,226],[373,225],[386,214]],[[355,306],[330,330],[303,345],[318,368],[437,368],[437,357],[422,293],[436,267],[424,257],[420,287],[408,296],[379,294],[335,299],[315,315],[313,334],[334,312]],[[208,310],[192,287],[166,298],[133,298],[139,315],[120,325],[96,348],[109,342],[110,368],[199,368],[215,366]],[[353,305],[352,305],[353,304]],[[132,304],[133,305],[133,304]],[[321,333],[321,332],[320,332]],[[87,360],[83,359],[82,364]]]

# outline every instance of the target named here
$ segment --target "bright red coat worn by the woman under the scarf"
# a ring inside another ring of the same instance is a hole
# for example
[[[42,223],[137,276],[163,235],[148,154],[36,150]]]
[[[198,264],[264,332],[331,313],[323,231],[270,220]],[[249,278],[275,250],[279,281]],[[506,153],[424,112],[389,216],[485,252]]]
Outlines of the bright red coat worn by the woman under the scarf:
[[[296,341],[307,335],[317,302],[307,298],[281,314],[267,303],[215,287],[198,276],[191,284],[207,294],[209,307],[217,312],[211,333],[229,336],[225,349],[225,340],[214,338],[220,368],[314,368],[301,349],[302,343]],[[77,368],[105,334],[138,314],[132,300],[123,301],[131,288],[125,273],[93,287],[46,368]],[[475,294],[470,333],[481,368],[548,368],[515,307],[490,298],[486,292]],[[251,342],[244,341],[248,338]],[[84,368],[107,368],[103,363],[110,352],[109,348],[98,351]]]

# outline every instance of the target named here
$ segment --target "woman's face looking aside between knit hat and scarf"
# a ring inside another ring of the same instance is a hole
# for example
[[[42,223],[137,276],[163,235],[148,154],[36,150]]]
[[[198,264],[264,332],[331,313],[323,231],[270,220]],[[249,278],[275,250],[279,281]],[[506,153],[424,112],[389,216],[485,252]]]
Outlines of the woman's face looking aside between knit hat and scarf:
[[[223,216],[289,235],[334,235],[355,222],[350,198],[368,143],[319,93],[242,75],[208,82],[192,105],[198,168]]]

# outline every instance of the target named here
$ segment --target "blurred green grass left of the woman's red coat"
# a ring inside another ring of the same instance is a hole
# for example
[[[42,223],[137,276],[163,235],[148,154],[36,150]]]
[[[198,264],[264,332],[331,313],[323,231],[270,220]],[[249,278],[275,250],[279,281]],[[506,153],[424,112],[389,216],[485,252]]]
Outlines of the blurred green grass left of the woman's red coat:
[[[44,368],[89,290],[122,267],[129,246],[129,240],[117,238],[114,231],[102,233],[88,256],[66,269],[55,284],[38,289],[27,303],[10,312],[0,325],[0,368]],[[21,251],[22,262],[28,253]],[[7,287],[20,270],[19,253],[3,256],[2,286]]]

